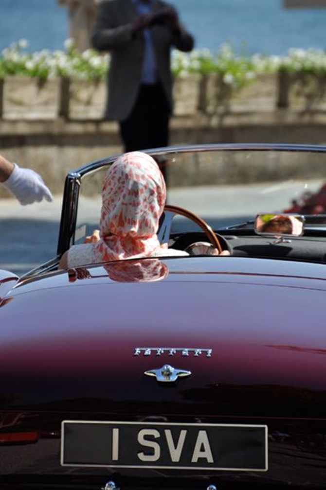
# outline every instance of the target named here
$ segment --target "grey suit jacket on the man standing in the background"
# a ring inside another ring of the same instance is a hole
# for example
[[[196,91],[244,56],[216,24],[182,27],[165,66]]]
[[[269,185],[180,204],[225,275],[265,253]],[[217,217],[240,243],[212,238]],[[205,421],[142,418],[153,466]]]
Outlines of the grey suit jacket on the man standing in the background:
[[[162,0],[153,0],[153,11],[170,6]],[[141,84],[144,55],[144,35],[132,36],[132,24],[137,19],[136,7],[131,0],[104,0],[100,3],[92,35],[94,48],[111,54],[108,75],[108,99],[105,117],[124,121],[131,112]],[[164,25],[151,27],[158,78],[161,81],[171,111],[172,75],[170,52],[172,47],[191,51],[193,37],[181,26],[172,32]]]

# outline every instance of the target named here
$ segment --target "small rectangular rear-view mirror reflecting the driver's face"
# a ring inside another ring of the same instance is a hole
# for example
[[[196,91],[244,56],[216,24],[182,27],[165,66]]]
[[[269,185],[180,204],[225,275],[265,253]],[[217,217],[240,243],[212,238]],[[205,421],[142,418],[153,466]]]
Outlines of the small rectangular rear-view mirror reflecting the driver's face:
[[[255,219],[254,230],[257,235],[283,237],[300,237],[304,231],[304,216],[293,214],[259,213]]]

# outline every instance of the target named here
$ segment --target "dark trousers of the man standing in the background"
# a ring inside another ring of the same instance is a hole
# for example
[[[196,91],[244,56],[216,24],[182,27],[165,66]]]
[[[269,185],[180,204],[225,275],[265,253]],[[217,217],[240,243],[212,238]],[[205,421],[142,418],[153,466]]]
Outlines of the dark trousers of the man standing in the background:
[[[120,122],[125,151],[167,147],[170,107],[160,83],[141,85],[131,114]]]

